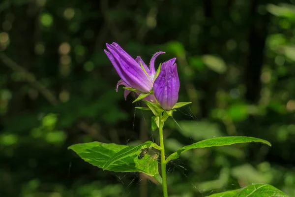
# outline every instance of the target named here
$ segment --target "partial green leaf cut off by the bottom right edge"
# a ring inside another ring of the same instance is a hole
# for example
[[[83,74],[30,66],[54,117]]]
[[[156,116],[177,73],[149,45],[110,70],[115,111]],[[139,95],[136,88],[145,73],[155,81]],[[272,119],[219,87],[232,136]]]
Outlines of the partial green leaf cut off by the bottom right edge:
[[[277,188],[267,184],[255,184],[247,187],[213,194],[208,197],[289,197]]]

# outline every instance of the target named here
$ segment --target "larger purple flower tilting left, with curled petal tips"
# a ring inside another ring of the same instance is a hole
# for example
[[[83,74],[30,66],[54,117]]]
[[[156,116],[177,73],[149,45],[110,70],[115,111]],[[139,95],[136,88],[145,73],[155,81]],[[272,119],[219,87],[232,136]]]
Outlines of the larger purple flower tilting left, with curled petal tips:
[[[126,53],[117,43],[107,44],[107,49],[104,50],[111,63],[115,67],[121,80],[118,81],[117,91],[119,85],[131,87],[139,92],[148,93],[153,87],[153,79],[155,76],[154,62],[158,55],[165,52],[157,52],[150,60],[149,68],[140,57],[135,60]],[[142,64],[142,66],[140,65]],[[144,69],[143,69],[144,68]],[[130,93],[125,90],[124,97]]]

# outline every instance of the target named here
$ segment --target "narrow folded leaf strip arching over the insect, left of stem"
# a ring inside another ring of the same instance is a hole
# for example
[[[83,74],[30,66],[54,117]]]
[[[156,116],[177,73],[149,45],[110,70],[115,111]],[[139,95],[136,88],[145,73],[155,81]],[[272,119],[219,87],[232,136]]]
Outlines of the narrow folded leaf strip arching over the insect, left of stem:
[[[140,144],[138,146],[127,146],[126,148],[120,150],[116,154],[114,154],[106,164],[103,166],[103,170],[109,168],[112,164],[114,164],[117,161],[120,161],[126,157],[134,156],[136,154],[139,154],[140,151],[144,148],[154,147],[155,149],[161,150],[161,147],[157,144],[153,143],[152,141],[146,141],[143,144]]]

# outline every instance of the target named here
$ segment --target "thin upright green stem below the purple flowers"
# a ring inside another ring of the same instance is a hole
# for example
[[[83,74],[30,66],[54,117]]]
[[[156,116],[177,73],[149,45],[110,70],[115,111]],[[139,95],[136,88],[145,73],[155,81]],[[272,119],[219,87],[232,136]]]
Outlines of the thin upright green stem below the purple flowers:
[[[164,137],[163,137],[163,121],[161,120],[162,117],[159,117],[159,135],[160,135],[160,146],[161,150],[161,170],[162,170],[162,187],[163,187],[163,196],[168,197],[167,191],[167,181],[166,181],[166,161],[165,161],[165,148],[164,148]]]

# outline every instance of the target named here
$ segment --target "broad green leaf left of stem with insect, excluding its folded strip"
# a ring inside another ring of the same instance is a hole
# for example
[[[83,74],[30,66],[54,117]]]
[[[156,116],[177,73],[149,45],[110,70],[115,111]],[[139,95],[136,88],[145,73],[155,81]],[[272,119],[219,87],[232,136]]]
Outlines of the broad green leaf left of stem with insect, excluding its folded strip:
[[[73,150],[89,164],[103,168],[107,161],[114,155],[128,147],[129,146],[114,143],[90,142],[74,144],[68,147],[68,149]],[[136,154],[137,155],[129,155],[112,163],[107,167],[107,170],[114,172],[143,172],[162,183],[162,178],[158,172],[158,161],[153,160],[148,154],[143,159],[139,160],[138,155],[140,151]]]

